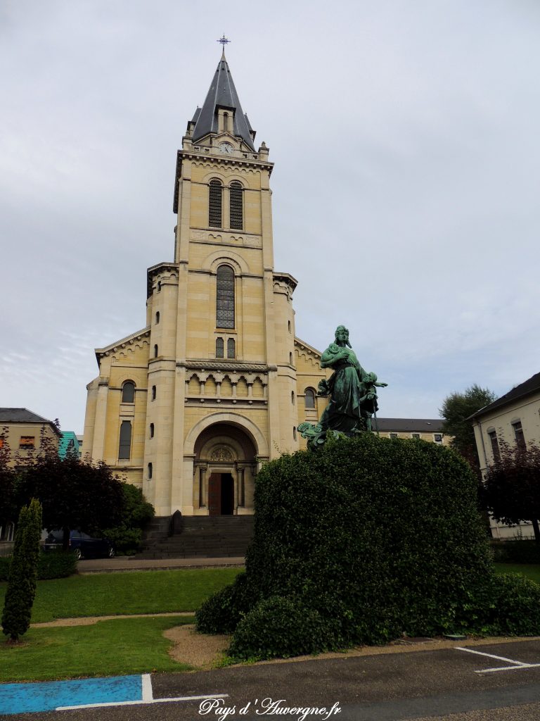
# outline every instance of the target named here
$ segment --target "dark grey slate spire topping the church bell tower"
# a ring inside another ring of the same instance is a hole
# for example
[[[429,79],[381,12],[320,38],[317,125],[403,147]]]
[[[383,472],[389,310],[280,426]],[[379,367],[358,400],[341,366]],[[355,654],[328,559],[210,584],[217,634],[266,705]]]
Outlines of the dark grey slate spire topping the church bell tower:
[[[233,76],[230,74],[228,62],[225,59],[225,46],[212,79],[210,90],[204,100],[204,105],[200,112],[196,112],[194,117],[194,120],[197,119],[193,131],[194,143],[207,135],[207,133],[218,132],[217,110],[220,107],[234,111],[233,135],[242,138],[246,145],[255,151],[250,133],[251,125],[249,125],[248,118],[244,115],[240,105]]]

